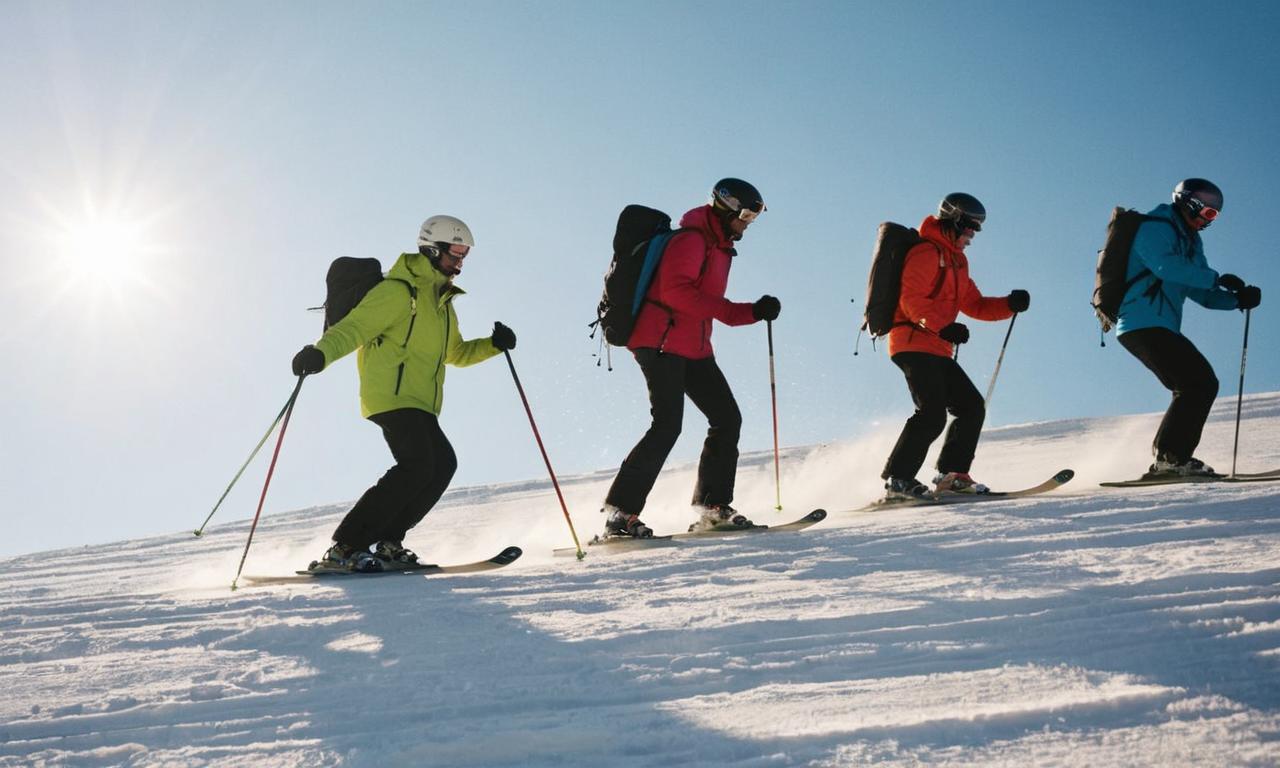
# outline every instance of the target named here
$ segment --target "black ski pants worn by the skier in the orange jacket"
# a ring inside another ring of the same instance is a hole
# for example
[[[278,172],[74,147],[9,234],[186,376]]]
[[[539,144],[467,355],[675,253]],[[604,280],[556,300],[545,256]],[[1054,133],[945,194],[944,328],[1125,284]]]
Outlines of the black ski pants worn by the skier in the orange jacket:
[[[929,445],[947,426],[947,413],[955,419],[938,454],[940,472],[968,472],[978,451],[987,406],[960,364],[927,352],[899,352],[893,365],[902,369],[906,387],[915,402],[915,413],[906,420],[881,477],[915,477],[924,465]]]

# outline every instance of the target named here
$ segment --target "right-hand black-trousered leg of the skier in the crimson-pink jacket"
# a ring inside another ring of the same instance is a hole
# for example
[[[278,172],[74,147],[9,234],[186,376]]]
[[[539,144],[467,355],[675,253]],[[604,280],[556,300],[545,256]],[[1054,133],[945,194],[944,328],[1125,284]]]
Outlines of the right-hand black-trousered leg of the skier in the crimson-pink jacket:
[[[742,412],[714,357],[689,361],[685,392],[707,416],[707,439],[698,462],[694,503],[704,507],[727,506],[733,500],[737,477],[737,440],[742,433]]]

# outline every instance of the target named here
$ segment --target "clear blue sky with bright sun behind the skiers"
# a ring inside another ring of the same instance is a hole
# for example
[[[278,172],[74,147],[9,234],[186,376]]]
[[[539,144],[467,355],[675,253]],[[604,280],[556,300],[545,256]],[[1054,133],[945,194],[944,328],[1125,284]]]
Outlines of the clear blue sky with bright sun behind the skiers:
[[[475,232],[462,330],[516,330],[556,468],[616,466],[648,424],[634,362],[614,355],[605,372],[586,335],[617,211],[678,216],[724,175],[769,205],[730,296],[782,300],[785,444],[908,415],[883,349],[864,338],[852,355],[867,268],[879,221],[914,225],[952,191],[988,210],[978,285],[1032,293],[988,424],[1164,408],[1137,361],[1098,347],[1088,296],[1111,207],[1152,207],[1189,175],[1226,196],[1211,265],[1263,288],[1245,392],[1280,389],[1270,3],[8,1],[0,15],[0,554],[198,524],[319,335],[306,307],[329,261],[389,266],[433,214]],[[960,360],[986,389],[1005,325],[972,329]],[[1184,330],[1234,396],[1243,316],[1192,307]],[[719,328],[716,346],[742,448],[764,449],[764,328]],[[442,424],[456,484],[545,474],[500,360],[449,372]],[[690,410],[673,461],[701,431]],[[1133,454],[1121,474],[1147,461],[1146,438]],[[346,360],[307,379],[268,513],[353,499],[388,463]],[[979,470],[998,484],[980,448]],[[252,515],[264,471],[221,520]]]

